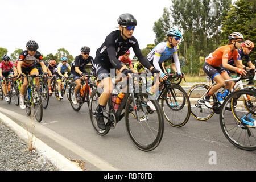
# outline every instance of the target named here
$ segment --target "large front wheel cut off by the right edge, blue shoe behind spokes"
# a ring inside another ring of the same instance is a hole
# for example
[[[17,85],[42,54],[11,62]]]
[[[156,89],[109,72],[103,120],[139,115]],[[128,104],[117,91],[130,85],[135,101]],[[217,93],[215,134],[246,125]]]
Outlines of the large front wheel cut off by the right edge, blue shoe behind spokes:
[[[250,97],[250,107],[246,108],[244,97]],[[227,110],[228,104],[231,111]],[[242,150],[256,150],[256,92],[238,90],[229,94],[220,110],[220,126],[225,137]],[[254,122],[253,122],[254,121]]]

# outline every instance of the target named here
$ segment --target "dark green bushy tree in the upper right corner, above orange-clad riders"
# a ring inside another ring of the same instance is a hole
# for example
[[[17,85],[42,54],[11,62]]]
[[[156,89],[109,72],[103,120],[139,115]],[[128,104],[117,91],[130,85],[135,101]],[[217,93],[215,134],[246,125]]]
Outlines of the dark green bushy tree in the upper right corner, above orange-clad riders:
[[[245,40],[251,40],[256,43],[256,0],[239,0],[228,15],[225,16],[222,26],[222,34],[225,37],[222,44],[226,44],[229,34],[232,32],[240,32]],[[251,60],[256,59],[255,51],[250,53]]]

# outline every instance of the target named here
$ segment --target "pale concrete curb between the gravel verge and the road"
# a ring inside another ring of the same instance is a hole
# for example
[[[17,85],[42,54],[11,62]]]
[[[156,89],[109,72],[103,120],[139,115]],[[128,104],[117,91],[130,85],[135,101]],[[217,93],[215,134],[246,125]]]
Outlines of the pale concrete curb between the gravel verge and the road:
[[[35,142],[32,143],[32,146],[34,146],[40,154],[55,164],[60,171],[82,171],[82,169],[76,164],[72,163],[70,160],[65,158],[65,156],[53,150],[51,147],[47,146],[46,143],[36,138],[35,135],[31,134],[29,131],[16,124],[13,120],[6,117],[5,114],[0,113],[0,120],[5,123],[6,126],[10,127],[20,138],[24,140],[24,142],[28,143],[29,137],[32,137]]]

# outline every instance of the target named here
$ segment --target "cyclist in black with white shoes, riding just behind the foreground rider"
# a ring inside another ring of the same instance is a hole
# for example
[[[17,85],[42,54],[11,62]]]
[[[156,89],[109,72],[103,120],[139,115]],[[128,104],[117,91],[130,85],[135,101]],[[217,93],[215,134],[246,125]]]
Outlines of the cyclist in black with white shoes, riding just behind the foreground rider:
[[[76,82],[76,87],[72,98],[73,104],[77,104],[76,96],[81,88],[81,79],[85,80],[87,79],[86,75],[89,75],[84,67],[88,63],[93,63],[93,57],[89,56],[89,54],[90,48],[88,46],[83,46],[81,48],[81,55],[76,56],[75,60],[71,63],[71,74]]]

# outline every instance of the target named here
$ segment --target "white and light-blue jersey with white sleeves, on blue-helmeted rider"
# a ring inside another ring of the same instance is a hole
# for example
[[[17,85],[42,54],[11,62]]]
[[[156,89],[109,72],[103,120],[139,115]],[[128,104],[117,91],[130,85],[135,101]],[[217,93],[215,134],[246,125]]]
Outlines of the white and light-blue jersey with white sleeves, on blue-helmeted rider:
[[[163,63],[165,60],[170,59],[171,56],[174,57],[177,72],[181,73],[180,61],[177,56],[177,46],[174,46],[172,48],[170,45],[168,45],[167,42],[161,42],[158,45],[156,45],[150,53],[148,53],[147,59],[148,61],[150,61],[151,64],[154,65],[156,69],[163,73],[162,68],[160,67],[159,64]]]

